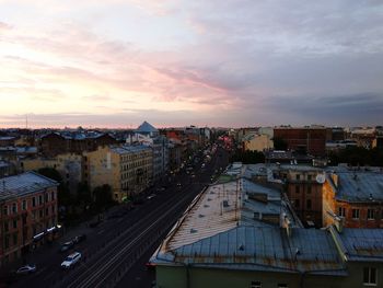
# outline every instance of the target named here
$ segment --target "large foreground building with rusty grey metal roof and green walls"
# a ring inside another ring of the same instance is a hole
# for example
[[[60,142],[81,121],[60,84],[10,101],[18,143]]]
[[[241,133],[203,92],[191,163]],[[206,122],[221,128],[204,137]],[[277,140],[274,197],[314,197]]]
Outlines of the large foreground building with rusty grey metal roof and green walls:
[[[304,229],[244,169],[195,198],[154,252],[159,287],[378,287],[383,230]]]

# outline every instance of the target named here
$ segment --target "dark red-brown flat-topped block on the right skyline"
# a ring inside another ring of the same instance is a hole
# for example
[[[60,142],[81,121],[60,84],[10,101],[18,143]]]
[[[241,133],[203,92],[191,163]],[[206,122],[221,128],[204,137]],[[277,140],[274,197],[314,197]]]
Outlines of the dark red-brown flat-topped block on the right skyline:
[[[281,139],[289,150],[322,157],[326,152],[325,127],[277,127],[274,139]]]

